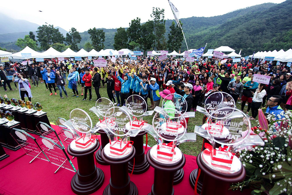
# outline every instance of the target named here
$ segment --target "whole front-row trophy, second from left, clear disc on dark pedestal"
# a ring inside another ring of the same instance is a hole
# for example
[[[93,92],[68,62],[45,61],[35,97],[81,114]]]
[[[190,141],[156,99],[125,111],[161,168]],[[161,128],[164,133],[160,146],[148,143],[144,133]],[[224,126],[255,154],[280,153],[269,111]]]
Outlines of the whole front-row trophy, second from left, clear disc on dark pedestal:
[[[109,143],[102,149],[102,159],[109,163],[110,182],[103,194],[138,194],[136,185],[128,175],[128,162],[135,156],[135,148],[128,138],[135,137],[140,130],[131,130],[131,116],[120,107],[110,108],[105,115],[105,132]]]

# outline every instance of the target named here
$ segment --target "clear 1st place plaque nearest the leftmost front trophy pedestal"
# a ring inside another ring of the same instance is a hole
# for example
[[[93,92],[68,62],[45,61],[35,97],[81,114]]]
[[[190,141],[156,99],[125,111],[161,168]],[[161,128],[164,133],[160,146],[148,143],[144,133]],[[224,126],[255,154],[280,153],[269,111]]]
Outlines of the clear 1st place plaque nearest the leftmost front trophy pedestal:
[[[72,161],[69,159],[63,146],[44,136],[37,138],[37,142],[51,163],[58,165],[59,168],[62,167],[67,170],[76,172],[76,169]],[[55,171],[55,173],[59,170],[59,168]]]

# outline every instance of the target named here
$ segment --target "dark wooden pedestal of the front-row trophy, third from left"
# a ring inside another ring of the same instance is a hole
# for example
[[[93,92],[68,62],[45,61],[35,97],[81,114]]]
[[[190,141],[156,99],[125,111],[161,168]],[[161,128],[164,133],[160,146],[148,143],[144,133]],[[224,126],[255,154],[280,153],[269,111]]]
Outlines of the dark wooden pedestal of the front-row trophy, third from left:
[[[148,150],[146,158],[154,168],[154,184],[148,195],[173,195],[174,174],[185,165],[185,156],[182,155],[181,160],[176,163],[164,164],[154,160],[150,155],[150,150]]]

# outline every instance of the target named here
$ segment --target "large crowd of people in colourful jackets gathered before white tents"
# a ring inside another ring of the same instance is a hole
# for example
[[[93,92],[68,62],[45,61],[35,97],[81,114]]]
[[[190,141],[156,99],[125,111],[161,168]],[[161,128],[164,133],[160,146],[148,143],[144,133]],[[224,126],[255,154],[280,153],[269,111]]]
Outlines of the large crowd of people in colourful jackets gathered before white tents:
[[[23,100],[25,96],[32,97],[31,85],[38,87],[39,83],[45,83],[46,90],[50,91],[48,95],[57,95],[58,90],[62,99],[62,92],[68,97],[67,86],[72,89],[72,96],[81,95],[82,100],[90,101],[92,87],[98,100],[101,84],[103,87],[106,84],[108,98],[114,105],[122,106],[131,94],[136,94],[146,102],[150,99],[151,105],[147,109],[159,106],[165,94],[177,93],[186,99],[188,111],[196,111],[197,105],[203,105],[208,95],[221,91],[230,94],[235,103],[240,103],[237,107],[242,111],[247,106],[246,114],[251,120],[256,119],[261,107],[271,113],[292,110],[291,70],[275,61],[241,59],[241,62],[233,63],[228,59],[221,64],[218,58],[199,58],[192,63],[182,58],[159,61],[154,56],[140,56],[138,60],[119,57],[114,62],[105,59],[106,67],[95,67],[93,59],[88,58],[83,61],[58,61],[56,58],[50,63],[34,61],[30,65],[6,63],[0,66],[1,86],[5,91],[6,85],[13,90],[10,82],[15,82]],[[270,76],[269,84],[253,81],[255,74]],[[7,80],[8,75],[13,75],[13,80]]]

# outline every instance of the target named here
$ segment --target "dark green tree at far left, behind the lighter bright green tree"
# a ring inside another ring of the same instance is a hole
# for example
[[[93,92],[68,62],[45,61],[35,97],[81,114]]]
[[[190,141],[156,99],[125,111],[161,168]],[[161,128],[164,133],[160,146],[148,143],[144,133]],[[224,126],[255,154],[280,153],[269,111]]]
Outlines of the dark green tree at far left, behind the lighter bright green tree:
[[[55,29],[54,25],[42,25],[37,28],[37,38],[41,43],[41,48],[46,50],[49,49],[49,45],[54,43],[63,43],[65,38],[60,33],[59,29]]]

